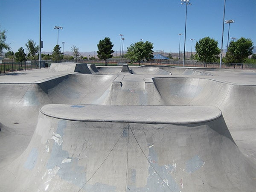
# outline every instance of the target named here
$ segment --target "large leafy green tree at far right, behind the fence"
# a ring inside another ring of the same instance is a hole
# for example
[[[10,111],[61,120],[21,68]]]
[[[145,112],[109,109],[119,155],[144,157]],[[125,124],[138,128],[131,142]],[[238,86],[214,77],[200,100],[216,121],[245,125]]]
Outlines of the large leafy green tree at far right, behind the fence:
[[[236,63],[243,63],[253,54],[253,42],[250,38],[242,37],[237,41],[231,41],[227,50],[226,61],[233,63],[235,68]]]

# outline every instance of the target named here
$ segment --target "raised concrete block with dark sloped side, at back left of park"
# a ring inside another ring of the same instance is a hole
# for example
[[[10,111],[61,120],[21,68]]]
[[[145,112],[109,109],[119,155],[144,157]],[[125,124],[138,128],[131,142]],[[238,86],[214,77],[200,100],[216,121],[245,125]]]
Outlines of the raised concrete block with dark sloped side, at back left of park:
[[[88,73],[91,74],[90,69],[86,63],[52,63],[49,72],[79,72],[79,73]]]

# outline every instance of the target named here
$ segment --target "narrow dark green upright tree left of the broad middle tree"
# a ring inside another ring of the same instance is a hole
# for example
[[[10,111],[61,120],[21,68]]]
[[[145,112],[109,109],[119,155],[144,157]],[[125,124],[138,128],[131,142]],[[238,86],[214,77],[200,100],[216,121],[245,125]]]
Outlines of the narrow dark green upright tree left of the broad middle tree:
[[[113,44],[110,41],[110,38],[105,37],[102,40],[99,40],[99,44],[97,45],[99,51],[97,51],[98,53],[98,57],[99,59],[104,59],[105,60],[105,65],[107,65],[107,59],[108,58],[112,58],[113,55],[112,53],[115,52],[112,48],[113,48]]]

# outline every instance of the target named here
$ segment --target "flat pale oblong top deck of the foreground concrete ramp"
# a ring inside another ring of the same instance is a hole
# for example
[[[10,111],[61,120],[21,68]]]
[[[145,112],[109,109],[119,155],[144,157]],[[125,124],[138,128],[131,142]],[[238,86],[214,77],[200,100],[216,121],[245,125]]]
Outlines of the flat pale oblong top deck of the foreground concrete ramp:
[[[191,124],[218,119],[221,111],[213,106],[134,106],[134,105],[44,105],[46,116],[71,121],[135,122],[150,124]]]

